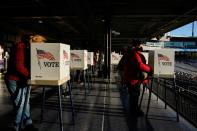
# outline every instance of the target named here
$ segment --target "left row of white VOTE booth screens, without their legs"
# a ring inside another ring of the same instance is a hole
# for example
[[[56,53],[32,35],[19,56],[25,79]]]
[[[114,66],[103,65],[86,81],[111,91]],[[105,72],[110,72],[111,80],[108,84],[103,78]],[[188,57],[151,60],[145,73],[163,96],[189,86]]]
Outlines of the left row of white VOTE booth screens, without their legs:
[[[70,70],[86,70],[93,64],[93,52],[70,50],[70,45],[35,43],[31,46],[31,80],[62,80],[70,77]]]

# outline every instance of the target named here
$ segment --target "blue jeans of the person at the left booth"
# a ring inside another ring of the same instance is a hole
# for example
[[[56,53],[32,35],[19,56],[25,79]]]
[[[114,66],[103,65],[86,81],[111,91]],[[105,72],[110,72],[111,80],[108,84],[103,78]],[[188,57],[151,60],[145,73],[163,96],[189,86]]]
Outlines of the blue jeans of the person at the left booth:
[[[14,110],[14,127],[16,130],[18,130],[24,102],[25,102],[25,96],[27,93],[27,86],[18,85],[17,81],[15,80],[5,80],[6,86],[8,88],[8,91],[11,95],[12,103],[13,103],[13,110]],[[24,117],[23,117],[23,126],[32,124],[32,119],[30,116],[30,105],[29,105],[29,98],[28,98],[28,104],[26,106],[26,109],[24,111]]]

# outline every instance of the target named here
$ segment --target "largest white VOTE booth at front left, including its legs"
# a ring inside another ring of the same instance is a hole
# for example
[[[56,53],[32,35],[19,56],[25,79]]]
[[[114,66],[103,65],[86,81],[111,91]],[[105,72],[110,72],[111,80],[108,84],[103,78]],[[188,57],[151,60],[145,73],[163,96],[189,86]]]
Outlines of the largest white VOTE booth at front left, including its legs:
[[[62,119],[62,84],[70,80],[70,45],[63,43],[32,43],[31,44],[31,79],[29,85],[41,85],[43,88],[43,100],[41,109],[41,120],[43,119],[44,103],[45,103],[45,88],[58,88],[58,103],[59,103],[59,119],[60,130],[63,131]],[[70,102],[72,106],[72,116],[74,117],[74,108],[71,97],[71,86],[67,83],[70,93]],[[27,105],[27,98],[30,95],[30,87],[27,88],[23,113]],[[21,119],[22,123],[22,119]]]

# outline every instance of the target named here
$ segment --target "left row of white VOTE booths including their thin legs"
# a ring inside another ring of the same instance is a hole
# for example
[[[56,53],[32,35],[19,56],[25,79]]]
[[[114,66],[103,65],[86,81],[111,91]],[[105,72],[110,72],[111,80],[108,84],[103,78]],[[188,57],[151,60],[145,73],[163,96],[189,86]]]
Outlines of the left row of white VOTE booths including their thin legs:
[[[70,45],[64,43],[31,44],[31,78],[28,81],[30,87],[28,88],[26,100],[30,97],[31,86],[36,85],[43,88],[41,120],[43,119],[44,113],[45,88],[56,87],[58,91],[60,131],[63,131],[61,99],[63,85],[66,85],[70,96],[72,119],[74,122],[74,106],[70,83],[71,71],[82,70],[85,72],[88,69],[88,65],[91,67],[93,64],[93,52],[88,52],[87,50],[71,50]],[[27,101],[25,102],[24,108],[26,108],[26,105]],[[23,116],[24,112],[22,118]]]

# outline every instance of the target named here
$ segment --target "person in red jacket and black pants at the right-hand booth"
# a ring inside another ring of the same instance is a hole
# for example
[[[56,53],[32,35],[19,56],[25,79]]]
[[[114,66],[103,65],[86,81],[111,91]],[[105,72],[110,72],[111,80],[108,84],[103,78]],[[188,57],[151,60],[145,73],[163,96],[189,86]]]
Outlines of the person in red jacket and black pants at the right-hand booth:
[[[127,51],[124,59],[124,82],[128,88],[130,113],[133,116],[143,116],[143,112],[138,107],[140,85],[145,82],[147,74],[152,72],[151,67],[144,63],[141,56],[142,44],[141,40],[133,40],[133,48]]]

